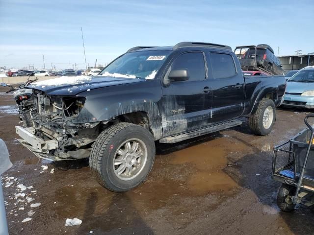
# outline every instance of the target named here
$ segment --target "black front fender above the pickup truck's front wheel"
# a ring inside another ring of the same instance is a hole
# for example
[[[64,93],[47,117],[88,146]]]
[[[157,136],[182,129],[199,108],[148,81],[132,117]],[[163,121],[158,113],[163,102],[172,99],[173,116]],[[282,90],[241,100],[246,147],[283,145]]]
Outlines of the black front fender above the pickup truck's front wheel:
[[[145,112],[155,139],[162,135],[159,79],[103,87],[80,93],[86,98],[76,123],[109,121],[123,114]]]

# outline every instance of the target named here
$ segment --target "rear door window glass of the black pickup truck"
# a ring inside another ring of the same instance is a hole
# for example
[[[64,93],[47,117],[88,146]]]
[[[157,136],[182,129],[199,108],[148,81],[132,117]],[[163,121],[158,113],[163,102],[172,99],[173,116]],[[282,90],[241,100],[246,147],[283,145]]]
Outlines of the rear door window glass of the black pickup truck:
[[[235,62],[231,55],[210,53],[209,59],[214,79],[228,78],[236,75]]]

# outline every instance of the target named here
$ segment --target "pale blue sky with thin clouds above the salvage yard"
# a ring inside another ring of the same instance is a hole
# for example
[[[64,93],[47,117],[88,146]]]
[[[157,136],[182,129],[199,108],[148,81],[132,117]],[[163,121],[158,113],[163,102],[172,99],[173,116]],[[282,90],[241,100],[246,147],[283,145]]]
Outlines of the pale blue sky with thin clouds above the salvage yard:
[[[104,64],[134,46],[182,41],[314,52],[314,1],[0,0],[0,67]]]

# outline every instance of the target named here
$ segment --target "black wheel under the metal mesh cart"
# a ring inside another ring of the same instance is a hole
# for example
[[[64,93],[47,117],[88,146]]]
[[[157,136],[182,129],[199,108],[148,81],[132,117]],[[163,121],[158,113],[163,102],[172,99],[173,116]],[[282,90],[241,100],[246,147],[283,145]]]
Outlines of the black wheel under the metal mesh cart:
[[[294,204],[292,203],[292,197],[295,193],[295,187],[282,184],[277,194],[277,205],[282,211],[292,211]]]

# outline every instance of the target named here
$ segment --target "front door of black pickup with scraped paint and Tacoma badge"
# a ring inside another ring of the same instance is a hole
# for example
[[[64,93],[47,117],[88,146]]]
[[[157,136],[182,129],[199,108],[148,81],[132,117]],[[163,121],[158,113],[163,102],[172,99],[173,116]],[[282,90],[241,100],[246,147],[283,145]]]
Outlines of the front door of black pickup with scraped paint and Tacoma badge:
[[[162,128],[169,136],[206,125],[212,93],[207,79],[205,53],[184,52],[170,64],[163,78]],[[173,81],[171,71],[186,70],[188,80]],[[207,104],[205,106],[205,103]]]

